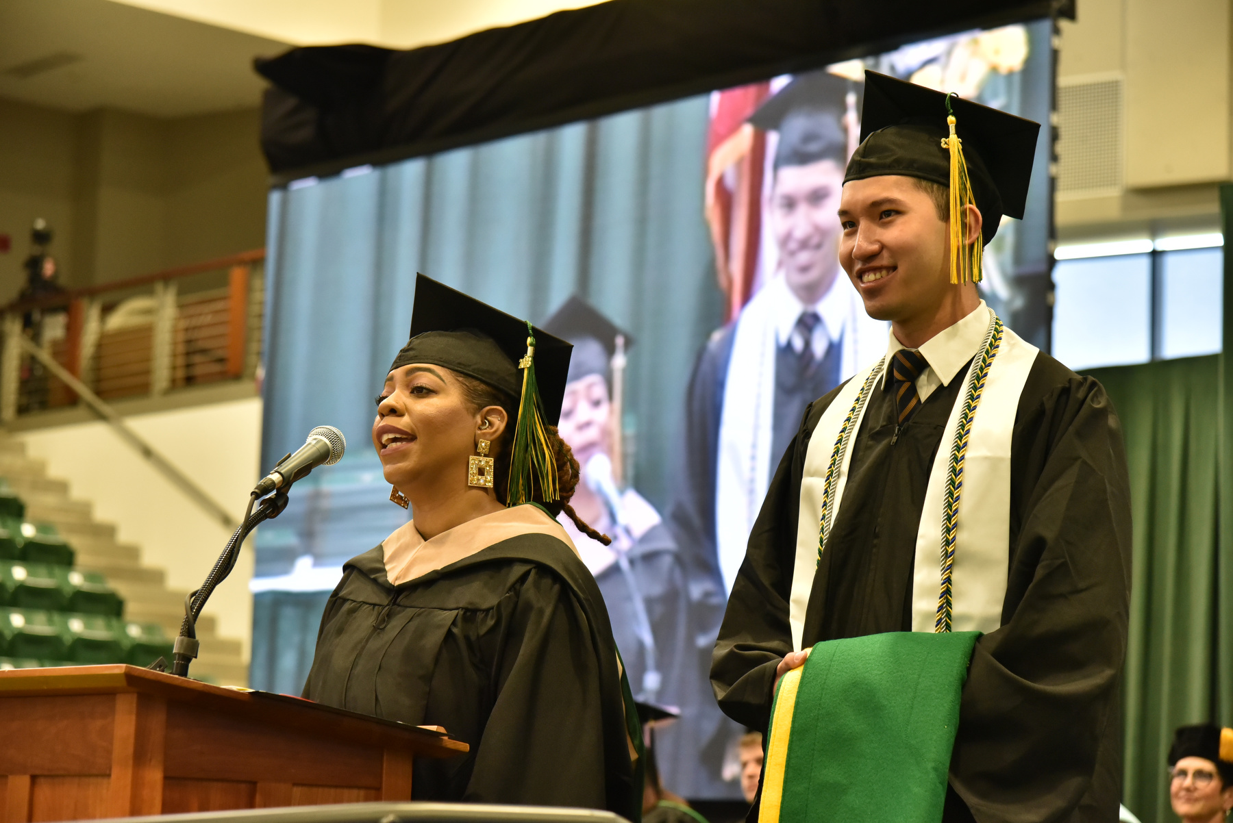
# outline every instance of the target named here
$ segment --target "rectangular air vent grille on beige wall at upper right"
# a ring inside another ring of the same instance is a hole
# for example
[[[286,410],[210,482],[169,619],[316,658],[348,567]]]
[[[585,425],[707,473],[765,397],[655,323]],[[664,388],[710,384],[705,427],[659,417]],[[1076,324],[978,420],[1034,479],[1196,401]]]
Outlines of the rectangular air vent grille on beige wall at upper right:
[[[1058,197],[1122,191],[1122,78],[1058,83]]]

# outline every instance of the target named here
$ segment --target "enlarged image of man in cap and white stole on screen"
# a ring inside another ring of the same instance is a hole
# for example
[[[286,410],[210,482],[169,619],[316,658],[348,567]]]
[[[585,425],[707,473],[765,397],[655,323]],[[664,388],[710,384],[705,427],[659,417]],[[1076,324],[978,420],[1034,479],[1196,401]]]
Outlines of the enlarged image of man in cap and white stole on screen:
[[[778,456],[805,407],[885,344],[840,271],[835,216],[847,164],[854,84],[803,74],[753,112],[776,132],[762,207],[777,265],[699,355],[687,395],[684,471],[672,520],[692,562],[731,588]]]

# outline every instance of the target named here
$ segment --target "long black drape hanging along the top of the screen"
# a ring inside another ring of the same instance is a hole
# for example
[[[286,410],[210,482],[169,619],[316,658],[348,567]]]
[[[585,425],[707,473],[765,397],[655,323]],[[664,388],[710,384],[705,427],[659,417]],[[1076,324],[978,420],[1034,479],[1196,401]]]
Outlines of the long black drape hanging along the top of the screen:
[[[398,52],[296,48],[261,148],[276,182],[387,163],[799,71],[968,27],[1053,14],[1057,0],[610,0]]]

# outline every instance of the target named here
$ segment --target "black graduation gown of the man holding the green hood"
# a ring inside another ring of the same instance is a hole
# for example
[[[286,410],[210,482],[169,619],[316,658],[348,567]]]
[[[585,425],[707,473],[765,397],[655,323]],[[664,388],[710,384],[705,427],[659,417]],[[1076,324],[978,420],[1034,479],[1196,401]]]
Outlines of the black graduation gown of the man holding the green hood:
[[[925,488],[965,373],[930,394],[894,444],[889,386],[870,394],[814,578],[803,647],[910,630]],[[793,651],[788,600],[805,453],[837,393],[810,405],[779,463],[715,647],[711,683],[721,708],[760,729],[776,667]],[[1001,628],[981,637],[973,654],[944,819],[1115,821],[1116,685],[1131,584],[1126,456],[1104,388],[1044,354],[1015,415],[1010,497]]]

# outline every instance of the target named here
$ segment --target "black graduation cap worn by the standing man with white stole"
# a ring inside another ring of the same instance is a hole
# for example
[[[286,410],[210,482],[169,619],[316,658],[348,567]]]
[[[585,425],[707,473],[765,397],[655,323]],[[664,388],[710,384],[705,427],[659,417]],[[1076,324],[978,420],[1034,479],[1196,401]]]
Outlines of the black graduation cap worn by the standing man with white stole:
[[[843,181],[905,175],[949,185],[946,102],[941,91],[866,71],[861,145]],[[1041,124],[957,96],[951,108],[989,243],[1002,214],[1023,218]]]

